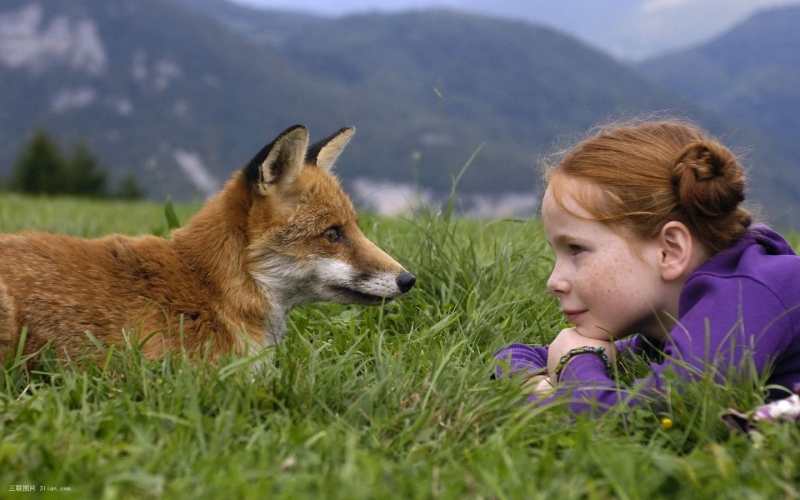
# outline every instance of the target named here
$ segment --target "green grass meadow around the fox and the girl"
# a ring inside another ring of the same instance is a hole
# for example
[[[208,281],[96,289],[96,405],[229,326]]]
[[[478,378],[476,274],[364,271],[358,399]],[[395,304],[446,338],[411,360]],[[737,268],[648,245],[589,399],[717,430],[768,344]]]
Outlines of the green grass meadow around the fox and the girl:
[[[177,206],[181,222],[195,207]],[[531,409],[492,353],[563,326],[536,221],[423,213],[362,229],[417,286],[382,308],[313,305],[290,316],[262,372],[113,349],[45,359],[0,384],[0,498],[797,498],[800,432],[752,438],[718,419],[759,383],[701,380],[667,410],[574,417]],[[166,230],[160,204],[0,198],[0,231],[80,236]],[[662,418],[673,426],[665,429]],[[16,493],[15,486],[69,491]]]

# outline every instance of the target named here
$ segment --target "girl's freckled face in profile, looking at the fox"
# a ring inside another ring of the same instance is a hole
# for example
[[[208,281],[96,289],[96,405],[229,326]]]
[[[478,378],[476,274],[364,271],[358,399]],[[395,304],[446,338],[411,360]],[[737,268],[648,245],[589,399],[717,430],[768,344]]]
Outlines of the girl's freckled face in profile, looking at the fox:
[[[556,257],[547,288],[561,301],[567,321],[594,339],[633,333],[663,338],[662,325],[672,323],[660,322],[655,313],[677,317],[678,296],[662,279],[658,241],[642,241],[622,229],[612,231],[591,220],[589,212],[569,196],[562,202],[569,211],[548,189],[542,222]]]

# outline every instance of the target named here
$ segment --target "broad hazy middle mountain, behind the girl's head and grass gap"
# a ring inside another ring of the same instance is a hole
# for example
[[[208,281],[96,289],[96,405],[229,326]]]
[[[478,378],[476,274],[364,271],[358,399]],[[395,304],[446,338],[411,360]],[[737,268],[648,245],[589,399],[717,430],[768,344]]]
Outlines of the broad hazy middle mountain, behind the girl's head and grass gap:
[[[553,142],[565,134],[609,118],[669,110],[700,122],[738,152],[747,153],[744,160],[751,173],[751,198],[769,220],[800,227],[800,203],[795,201],[800,176],[768,134],[758,132],[747,121],[704,111],[551,29],[454,11],[342,18],[292,14],[287,19],[283,17],[286,13],[220,0],[172,1],[221,20],[317,77],[358,92],[384,92],[386,99],[409,106],[438,107],[443,132],[424,135],[429,142],[449,141],[451,151],[454,146],[486,142],[462,188],[528,189],[531,174],[520,177],[514,166],[532,164],[537,155],[551,152]],[[269,36],[263,36],[265,33]],[[441,93],[441,99],[435,98],[433,88]],[[452,130],[463,123],[473,124],[478,134]],[[430,157],[432,148],[417,147],[424,153],[423,159]],[[498,150],[508,156],[521,151],[521,155],[509,161]],[[468,148],[462,148],[455,156],[461,159],[467,154]],[[511,171],[495,158],[509,162]],[[442,185],[447,176],[424,167],[424,185],[447,187]],[[400,168],[388,177],[401,180],[400,172],[405,175],[407,169]]]

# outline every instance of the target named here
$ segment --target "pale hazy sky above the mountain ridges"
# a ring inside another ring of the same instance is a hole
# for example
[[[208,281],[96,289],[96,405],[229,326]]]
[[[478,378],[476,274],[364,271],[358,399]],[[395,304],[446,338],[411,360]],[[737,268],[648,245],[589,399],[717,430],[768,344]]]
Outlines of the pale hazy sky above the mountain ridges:
[[[800,0],[232,0],[325,15],[450,7],[525,19],[570,33],[623,59],[713,38],[753,12]]]

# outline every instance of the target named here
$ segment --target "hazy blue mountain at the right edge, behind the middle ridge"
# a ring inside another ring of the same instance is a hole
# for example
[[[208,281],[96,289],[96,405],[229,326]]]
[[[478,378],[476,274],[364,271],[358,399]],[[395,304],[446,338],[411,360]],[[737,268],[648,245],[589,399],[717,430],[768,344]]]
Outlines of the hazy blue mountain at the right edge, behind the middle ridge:
[[[793,183],[800,178],[798,26],[800,7],[763,11],[708,43],[644,61],[637,68],[687,99],[771,137],[790,168],[764,166],[773,170],[776,180],[784,177]],[[797,198],[798,192],[792,195]],[[798,219],[800,213],[795,213],[793,220]]]

